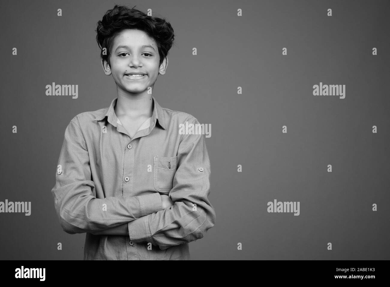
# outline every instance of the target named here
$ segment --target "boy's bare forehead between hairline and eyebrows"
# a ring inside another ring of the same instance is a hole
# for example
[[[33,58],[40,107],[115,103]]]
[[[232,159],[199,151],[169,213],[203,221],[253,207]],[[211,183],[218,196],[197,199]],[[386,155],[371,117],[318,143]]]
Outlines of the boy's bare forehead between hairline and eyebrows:
[[[132,47],[151,45],[154,48],[157,47],[156,41],[149,35],[138,29],[125,29],[122,30],[113,41],[113,48],[115,49],[119,45],[128,45]]]

